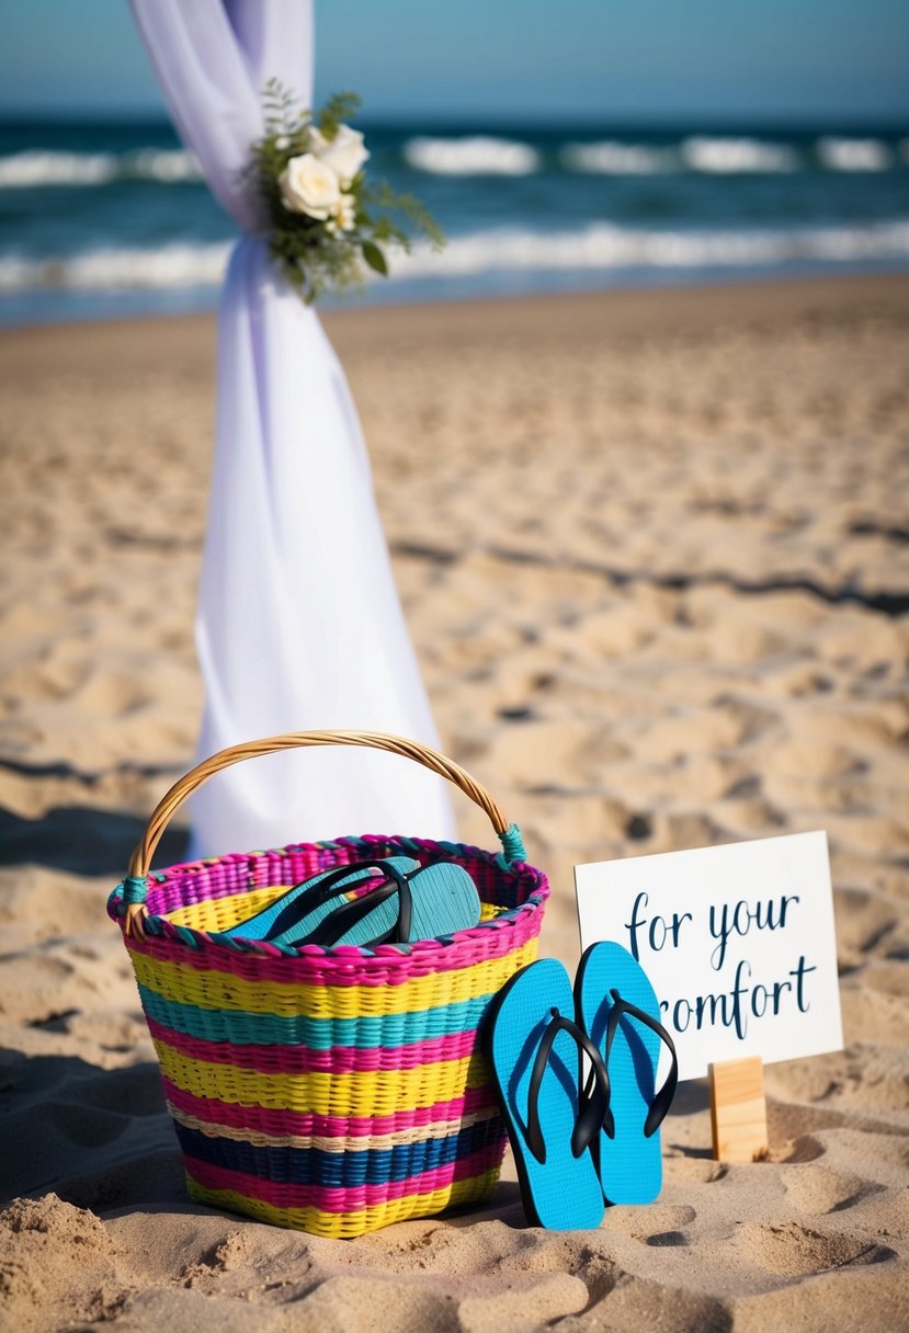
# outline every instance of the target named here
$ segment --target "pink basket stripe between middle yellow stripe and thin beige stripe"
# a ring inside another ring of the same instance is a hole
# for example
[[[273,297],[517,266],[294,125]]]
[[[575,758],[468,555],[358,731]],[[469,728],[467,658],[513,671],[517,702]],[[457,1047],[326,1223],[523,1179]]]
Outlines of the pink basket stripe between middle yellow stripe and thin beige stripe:
[[[216,1097],[195,1097],[177,1088],[169,1078],[163,1078],[164,1096],[184,1112],[207,1124],[229,1125],[233,1129],[259,1130],[263,1134],[280,1137],[309,1134],[329,1138],[372,1138],[373,1134],[393,1134],[403,1129],[431,1125],[440,1120],[458,1120],[461,1116],[485,1110],[492,1106],[492,1088],[468,1088],[462,1097],[451,1101],[437,1101],[432,1106],[396,1110],[391,1116],[316,1116],[308,1112],[273,1110],[268,1106],[239,1106]]]

